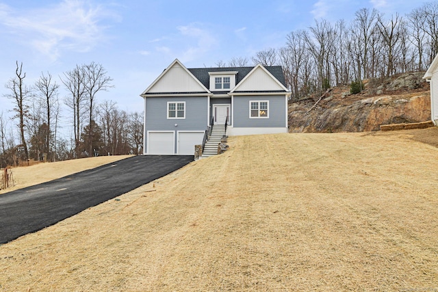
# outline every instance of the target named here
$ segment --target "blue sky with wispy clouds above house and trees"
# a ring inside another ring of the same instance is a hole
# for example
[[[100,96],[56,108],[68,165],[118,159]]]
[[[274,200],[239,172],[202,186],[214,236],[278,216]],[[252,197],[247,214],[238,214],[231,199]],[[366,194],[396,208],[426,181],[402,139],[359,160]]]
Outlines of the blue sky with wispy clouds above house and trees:
[[[232,57],[285,44],[286,35],[313,25],[315,18],[350,21],[360,8],[404,15],[427,1],[2,1],[0,0],[0,113],[12,101],[4,84],[23,62],[25,82],[41,72],[58,76],[76,64],[100,63],[114,88],[97,101],[141,111],[139,94],[178,58],[188,68],[215,66]],[[60,98],[65,96],[63,88]],[[69,113],[64,110],[65,126]]]

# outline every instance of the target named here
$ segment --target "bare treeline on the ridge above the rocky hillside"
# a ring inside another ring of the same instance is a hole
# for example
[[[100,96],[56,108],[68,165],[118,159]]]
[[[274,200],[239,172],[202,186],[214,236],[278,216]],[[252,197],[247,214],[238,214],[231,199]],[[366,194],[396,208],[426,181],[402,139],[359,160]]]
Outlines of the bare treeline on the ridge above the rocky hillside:
[[[286,39],[284,47],[259,51],[252,61],[283,66],[294,100],[337,84],[426,70],[438,53],[438,2],[404,16],[363,8],[350,23],[315,20],[309,29],[292,31]],[[216,66],[249,63],[237,57]]]

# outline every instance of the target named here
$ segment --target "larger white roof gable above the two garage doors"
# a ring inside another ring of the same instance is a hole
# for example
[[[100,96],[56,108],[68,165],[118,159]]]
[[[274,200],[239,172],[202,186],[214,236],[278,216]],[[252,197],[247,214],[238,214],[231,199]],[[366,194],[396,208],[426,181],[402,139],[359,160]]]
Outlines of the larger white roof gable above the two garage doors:
[[[209,90],[178,59],[175,59],[142,94],[170,92],[209,93]]]

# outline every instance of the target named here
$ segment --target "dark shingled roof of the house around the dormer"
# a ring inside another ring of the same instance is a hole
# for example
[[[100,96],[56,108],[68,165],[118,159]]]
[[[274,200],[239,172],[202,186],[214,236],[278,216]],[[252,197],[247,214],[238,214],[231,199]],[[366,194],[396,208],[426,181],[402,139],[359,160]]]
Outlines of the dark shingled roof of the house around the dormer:
[[[236,85],[245,78],[248,73],[253,70],[253,67],[220,67],[220,68],[188,68],[190,72],[196,77],[205,88],[209,88],[210,76],[208,72],[224,72],[224,71],[237,71],[237,80]],[[283,69],[281,66],[265,66],[266,70],[268,70],[272,76],[274,76],[281,84],[286,87],[285,75],[283,75]]]

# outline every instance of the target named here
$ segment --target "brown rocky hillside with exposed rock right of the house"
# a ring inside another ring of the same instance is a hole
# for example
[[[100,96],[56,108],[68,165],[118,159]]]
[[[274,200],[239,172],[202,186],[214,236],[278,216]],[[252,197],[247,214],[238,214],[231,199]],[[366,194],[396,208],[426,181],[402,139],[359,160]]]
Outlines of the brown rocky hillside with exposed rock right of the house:
[[[381,124],[430,120],[429,84],[424,72],[409,72],[383,82],[365,80],[365,90],[350,94],[337,86],[324,96],[289,103],[289,132],[378,131]]]

